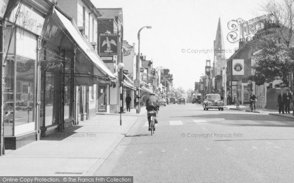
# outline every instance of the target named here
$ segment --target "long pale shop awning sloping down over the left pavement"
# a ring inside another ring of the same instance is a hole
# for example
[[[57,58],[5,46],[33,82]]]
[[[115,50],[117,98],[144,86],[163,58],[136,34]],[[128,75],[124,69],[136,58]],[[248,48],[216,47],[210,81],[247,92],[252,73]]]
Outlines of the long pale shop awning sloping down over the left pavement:
[[[86,40],[84,40],[78,29],[73,26],[73,23],[64,15],[62,15],[57,9],[55,9],[55,12],[63,23],[64,27],[70,33],[75,43],[79,46],[80,50],[88,57],[90,61],[92,61],[93,65],[109,79],[116,79],[116,76],[108,69],[98,54],[93,51],[93,47],[90,46]]]

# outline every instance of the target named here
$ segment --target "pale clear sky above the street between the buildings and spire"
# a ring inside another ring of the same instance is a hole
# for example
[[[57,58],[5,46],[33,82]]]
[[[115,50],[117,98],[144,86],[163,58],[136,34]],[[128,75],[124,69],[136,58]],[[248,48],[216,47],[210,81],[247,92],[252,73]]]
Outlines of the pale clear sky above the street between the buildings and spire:
[[[98,8],[123,8],[124,40],[136,44],[141,27],[140,52],[153,67],[166,67],[173,74],[173,86],[194,88],[204,74],[205,60],[213,63],[213,42],[218,20],[221,18],[225,57],[229,58],[238,42],[230,43],[226,37],[230,20],[265,15],[261,6],[267,0],[91,0]],[[188,53],[192,50],[197,53]]]

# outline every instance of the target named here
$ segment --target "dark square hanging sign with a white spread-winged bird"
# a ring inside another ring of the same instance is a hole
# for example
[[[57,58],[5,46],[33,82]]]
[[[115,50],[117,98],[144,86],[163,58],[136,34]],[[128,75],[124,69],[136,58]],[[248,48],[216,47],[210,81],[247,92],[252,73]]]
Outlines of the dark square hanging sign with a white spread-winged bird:
[[[100,34],[99,35],[99,55],[117,55],[118,54],[118,34]]]

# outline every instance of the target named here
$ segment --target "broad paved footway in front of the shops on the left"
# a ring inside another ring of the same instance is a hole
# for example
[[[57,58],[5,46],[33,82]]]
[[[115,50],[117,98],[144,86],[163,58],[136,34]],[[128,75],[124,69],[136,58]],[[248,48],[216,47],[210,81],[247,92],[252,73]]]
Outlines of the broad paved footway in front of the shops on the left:
[[[134,111],[122,114],[122,125],[117,114],[97,115],[17,150],[5,150],[0,176],[92,176],[138,120]],[[144,112],[142,108],[140,115]]]

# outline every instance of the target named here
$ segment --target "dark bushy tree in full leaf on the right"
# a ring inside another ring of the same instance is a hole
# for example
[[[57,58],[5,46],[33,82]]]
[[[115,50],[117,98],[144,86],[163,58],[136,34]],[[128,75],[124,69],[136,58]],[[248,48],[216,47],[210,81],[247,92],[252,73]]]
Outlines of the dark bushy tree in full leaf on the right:
[[[249,77],[249,80],[260,85],[280,79],[288,86],[288,73],[292,71],[294,65],[291,59],[294,58],[294,54],[291,53],[294,53],[294,50],[288,49],[286,44],[274,39],[265,39],[262,50],[253,57],[256,61],[252,65],[255,74]]]

